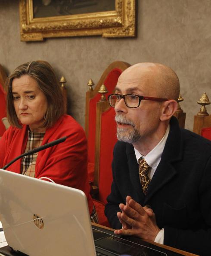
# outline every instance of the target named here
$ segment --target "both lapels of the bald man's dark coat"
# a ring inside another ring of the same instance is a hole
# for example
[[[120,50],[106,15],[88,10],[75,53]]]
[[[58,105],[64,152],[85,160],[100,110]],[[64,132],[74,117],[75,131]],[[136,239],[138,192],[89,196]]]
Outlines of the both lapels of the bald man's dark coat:
[[[136,191],[134,200],[137,202],[147,201],[162,187],[165,186],[171,179],[177,175],[174,168],[174,163],[181,161],[183,155],[183,143],[181,138],[180,128],[177,119],[173,116],[170,121],[170,132],[166,141],[164,151],[161,156],[161,161],[153,175],[152,181],[149,183],[146,196],[143,194],[139,178],[139,167],[134,153],[134,147],[127,144],[126,153],[128,159],[128,167],[130,172],[131,184]]]

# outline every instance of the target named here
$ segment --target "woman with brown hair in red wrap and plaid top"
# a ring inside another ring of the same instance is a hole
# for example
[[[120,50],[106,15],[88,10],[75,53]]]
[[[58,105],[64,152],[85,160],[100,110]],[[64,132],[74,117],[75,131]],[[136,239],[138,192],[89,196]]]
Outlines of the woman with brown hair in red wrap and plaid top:
[[[0,140],[0,167],[16,156],[67,136],[65,142],[25,156],[7,170],[83,190],[91,220],[96,212],[87,178],[87,141],[83,128],[64,115],[62,91],[48,62],[28,62],[6,80],[11,124]],[[70,202],[71,203],[71,202]]]

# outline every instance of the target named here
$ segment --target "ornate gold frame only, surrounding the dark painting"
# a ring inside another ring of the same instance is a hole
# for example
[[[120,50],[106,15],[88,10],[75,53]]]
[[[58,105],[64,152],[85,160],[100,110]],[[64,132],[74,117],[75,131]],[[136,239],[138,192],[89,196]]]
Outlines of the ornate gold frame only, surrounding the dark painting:
[[[91,35],[134,37],[136,0],[114,1],[115,10],[111,11],[34,18],[33,0],[19,0],[21,41]]]

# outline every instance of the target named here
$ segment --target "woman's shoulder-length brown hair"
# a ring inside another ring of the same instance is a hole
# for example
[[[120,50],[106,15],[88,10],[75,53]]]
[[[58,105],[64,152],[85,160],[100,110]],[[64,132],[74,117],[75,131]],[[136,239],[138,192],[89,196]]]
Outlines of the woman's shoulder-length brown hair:
[[[22,75],[29,75],[33,78],[37,82],[38,88],[45,94],[48,107],[41,127],[51,127],[64,114],[64,103],[62,90],[53,68],[48,62],[42,60],[20,65],[6,79],[6,109],[9,123],[18,128],[22,127],[16,115],[12,96],[12,81]]]

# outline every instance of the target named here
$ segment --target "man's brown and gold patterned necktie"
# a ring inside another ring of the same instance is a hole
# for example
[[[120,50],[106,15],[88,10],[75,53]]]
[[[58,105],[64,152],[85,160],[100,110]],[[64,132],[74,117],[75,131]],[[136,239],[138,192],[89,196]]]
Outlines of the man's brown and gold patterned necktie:
[[[139,159],[139,177],[141,180],[141,186],[143,193],[146,195],[146,191],[150,182],[150,178],[148,176],[150,166],[147,164],[144,158]]]

